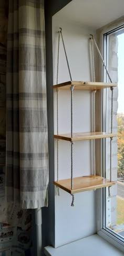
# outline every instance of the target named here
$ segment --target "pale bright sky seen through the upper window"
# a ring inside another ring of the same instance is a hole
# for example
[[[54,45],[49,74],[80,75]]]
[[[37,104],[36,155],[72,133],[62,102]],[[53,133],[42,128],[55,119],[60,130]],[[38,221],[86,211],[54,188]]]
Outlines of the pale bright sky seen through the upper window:
[[[118,35],[118,113],[124,113],[124,33]]]

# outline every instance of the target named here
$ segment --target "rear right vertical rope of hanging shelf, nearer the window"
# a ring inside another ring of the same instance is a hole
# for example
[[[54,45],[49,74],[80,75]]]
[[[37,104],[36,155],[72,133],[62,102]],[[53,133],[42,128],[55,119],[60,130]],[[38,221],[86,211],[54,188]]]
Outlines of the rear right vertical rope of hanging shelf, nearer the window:
[[[94,62],[94,48],[93,48],[93,39],[90,37],[91,41],[91,54],[92,54],[92,68],[93,68],[93,75],[94,75],[94,82],[96,82],[96,75],[95,75],[95,62]],[[96,132],[96,90],[94,91],[94,132]],[[94,175],[96,175],[96,157],[95,157],[95,140],[94,143]]]

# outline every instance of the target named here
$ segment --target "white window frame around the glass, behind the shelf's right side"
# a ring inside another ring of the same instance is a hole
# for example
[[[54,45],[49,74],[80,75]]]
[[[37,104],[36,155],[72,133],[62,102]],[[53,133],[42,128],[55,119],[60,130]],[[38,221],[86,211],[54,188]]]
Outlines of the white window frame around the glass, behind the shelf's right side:
[[[124,16],[117,19],[116,21],[98,29],[97,31],[97,42],[100,48],[101,53],[104,53],[104,34],[112,31],[113,29],[116,29],[117,27],[120,27],[124,24]],[[99,63],[99,65],[98,65]],[[98,74],[97,74],[97,79],[98,81],[102,80],[102,68],[100,65],[99,60],[97,59],[97,66],[100,67],[100,69],[98,70]],[[104,95],[102,95],[102,113],[103,115],[106,114],[106,106],[105,103],[106,102],[106,92],[104,93]],[[104,118],[104,116],[103,116]],[[104,124],[106,126],[106,124]],[[105,141],[103,140],[102,143],[103,147],[106,147]],[[106,165],[106,156],[104,155],[104,150],[102,151],[103,153],[103,157],[101,157],[102,161],[102,169],[103,172],[105,170],[105,165]],[[104,195],[104,196],[103,196]],[[105,214],[105,207],[104,207],[104,200],[105,200],[105,189],[102,190],[97,190],[97,234],[100,235],[100,237],[104,238],[105,240],[107,240],[109,243],[113,244],[115,247],[117,247],[119,250],[121,250],[122,252],[124,252],[124,242],[119,238],[119,235],[115,232],[112,232],[112,230],[108,229],[104,229],[104,216]]]

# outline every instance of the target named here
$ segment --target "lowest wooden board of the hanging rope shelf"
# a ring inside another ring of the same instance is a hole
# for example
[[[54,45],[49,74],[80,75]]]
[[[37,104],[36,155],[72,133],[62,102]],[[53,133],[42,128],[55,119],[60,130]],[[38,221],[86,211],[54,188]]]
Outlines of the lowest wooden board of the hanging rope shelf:
[[[70,194],[75,194],[75,193],[79,193],[87,190],[105,188],[106,186],[112,186],[112,185],[115,185],[116,183],[110,182],[109,180],[102,178],[101,176],[98,176],[98,175],[90,175],[90,176],[81,176],[81,177],[74,178],[73,190],[71,190],[70,179],[54,181],[54,184],[56,186],[59,186],[59,188],[65,190]]]

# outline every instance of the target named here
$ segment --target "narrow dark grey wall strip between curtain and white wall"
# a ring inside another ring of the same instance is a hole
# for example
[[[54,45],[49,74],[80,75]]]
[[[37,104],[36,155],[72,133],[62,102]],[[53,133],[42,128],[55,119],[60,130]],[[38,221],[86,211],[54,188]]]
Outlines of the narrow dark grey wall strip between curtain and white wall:
[[[54,191],[54,119],[53,119],[53,47],[52,16],[71,0],[45,0],[45,34],[46,34],[46,82],[49,143],[49,204],[42,210],[43,248],[55,245],[55,191]]]

